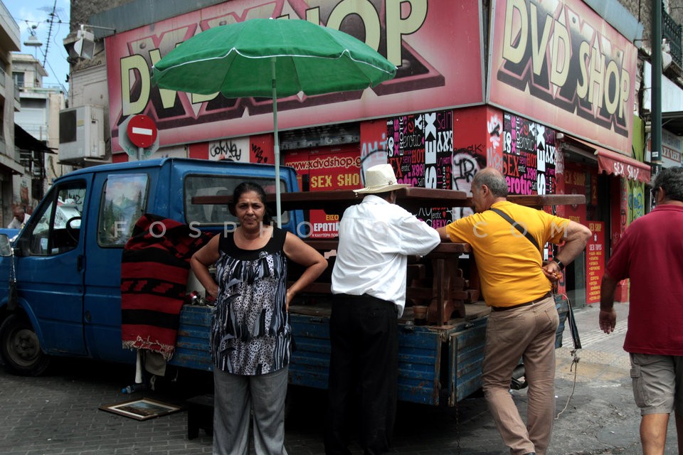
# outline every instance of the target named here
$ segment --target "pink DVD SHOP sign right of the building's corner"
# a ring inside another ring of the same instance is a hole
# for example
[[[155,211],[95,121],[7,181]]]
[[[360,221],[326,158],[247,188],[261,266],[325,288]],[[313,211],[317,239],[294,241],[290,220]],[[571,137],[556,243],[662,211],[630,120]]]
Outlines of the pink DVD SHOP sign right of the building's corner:
[[[580,0],[492,0],[488,101],[623,154],[637,49]]]

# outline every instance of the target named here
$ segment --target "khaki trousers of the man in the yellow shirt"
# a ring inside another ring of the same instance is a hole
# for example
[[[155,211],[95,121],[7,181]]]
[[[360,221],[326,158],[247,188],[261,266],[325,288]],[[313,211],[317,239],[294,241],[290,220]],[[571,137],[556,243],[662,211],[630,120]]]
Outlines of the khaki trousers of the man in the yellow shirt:
[[[510,454],[544,455],[555,413],[555,332],[559,316],[554,298],[506,311],[492,311],[486,328],[482,387],[489,410]],[[524,361],[526,425],[510,395],[512,372]]]

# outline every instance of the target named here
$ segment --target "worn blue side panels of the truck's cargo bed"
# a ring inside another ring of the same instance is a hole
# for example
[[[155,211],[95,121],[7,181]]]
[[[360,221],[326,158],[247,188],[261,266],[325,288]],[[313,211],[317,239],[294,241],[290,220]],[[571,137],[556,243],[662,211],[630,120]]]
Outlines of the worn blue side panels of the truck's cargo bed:
[[[559,348],[568,306],[559,296],[556,306],[560,314],[556,336]],[[412,309],[406,309],[398,331],[399,400],[452,407],[480,389],[489,308],[482,301],[466,304],[466,308],[465,318],[450,319],[443,326],[415,326]],[[329,314],[330,305],[324,301],[290,306],[295,340],[291,384],[327,389]],[[210,326],[210,306],[185,305],[176,352],[169,363],[211,371]]]

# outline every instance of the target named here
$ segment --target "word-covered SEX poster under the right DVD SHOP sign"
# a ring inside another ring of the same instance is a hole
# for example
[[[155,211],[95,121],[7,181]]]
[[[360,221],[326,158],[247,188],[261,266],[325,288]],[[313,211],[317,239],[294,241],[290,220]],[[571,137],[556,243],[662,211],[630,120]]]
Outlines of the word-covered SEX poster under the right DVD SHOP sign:
[[[555,131],[505,112],[503,134],[503,175],[509,193],[556,193]]]

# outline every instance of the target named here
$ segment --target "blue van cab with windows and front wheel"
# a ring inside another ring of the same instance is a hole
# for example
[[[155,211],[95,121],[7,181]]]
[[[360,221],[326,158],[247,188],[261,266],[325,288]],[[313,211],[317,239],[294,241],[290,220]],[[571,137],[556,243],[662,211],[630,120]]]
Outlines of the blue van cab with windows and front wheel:
[[[274,192],[275,167],[166,158],[93,166],[55,180],[14,240],[14,255],[0,259],[5,368],[39,375],[51,356],[134,362],[134,351],[122,349],[120,292],[134,224],[153,213],[218,232],[236,219],[223,203],[197,201],[232,195],[243,181]],[[292,168],[280,169],[280,189],[297,191]],[[300,216],[283,213],[282,228],[295,232]],[[208,345],[203,351],[208,355]]]

